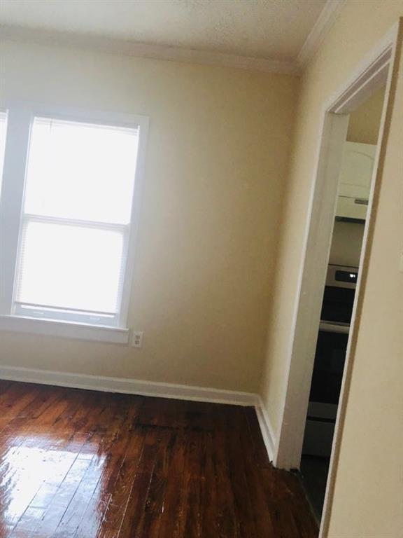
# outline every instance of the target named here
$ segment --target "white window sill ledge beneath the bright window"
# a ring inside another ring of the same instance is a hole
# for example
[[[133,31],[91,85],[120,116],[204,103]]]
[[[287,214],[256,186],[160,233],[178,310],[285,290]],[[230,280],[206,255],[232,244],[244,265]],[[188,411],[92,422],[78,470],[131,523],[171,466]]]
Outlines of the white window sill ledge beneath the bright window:
[[[129,329],[123,329],[122,327],[59,322],[53,319],[36,317],[0,315],[0,331],[17,331],[117,344],[127,344],[129,342]]]

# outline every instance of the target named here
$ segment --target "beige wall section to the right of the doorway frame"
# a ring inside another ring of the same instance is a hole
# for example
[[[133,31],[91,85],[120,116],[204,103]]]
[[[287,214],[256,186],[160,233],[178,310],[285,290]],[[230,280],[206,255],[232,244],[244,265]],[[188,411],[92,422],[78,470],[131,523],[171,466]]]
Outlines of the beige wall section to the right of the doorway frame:
[[[403,39],[403,33],[402,33]],[[403,57],[354,354],[330,537],[403,536]],[[355,509],[351,509],[351,506]]]

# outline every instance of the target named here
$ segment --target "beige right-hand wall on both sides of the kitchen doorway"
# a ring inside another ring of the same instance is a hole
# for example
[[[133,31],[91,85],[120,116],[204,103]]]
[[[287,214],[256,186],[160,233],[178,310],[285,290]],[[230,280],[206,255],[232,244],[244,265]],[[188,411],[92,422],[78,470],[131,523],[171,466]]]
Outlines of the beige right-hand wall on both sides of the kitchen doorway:
[[[281,401],[287,382],[292,315],[320,135],[321,105],[334,95],[400,15],[403,15],[402,0],[348,0],[302,78],[261,386],[275,432],[280,425]],[[397,128],[396,122],[395,130]],[[400,149],[395,145],[393,151],[397,153],[395,158],[399,158],[399,154],[401,158],[402,145]],[[397,263],[403,227],[402,174],[396,172],[397,168],[396,164],[394,172],[389,169],[390,185],[387,193],[384,191],[381,195],[376,222],[365,316],[353,371],[353,395],[346,418],[330,522],[332,538],[402,536],[403,320],[402,274],[397,273]],[[386,254],[388,249],[390,252]]]

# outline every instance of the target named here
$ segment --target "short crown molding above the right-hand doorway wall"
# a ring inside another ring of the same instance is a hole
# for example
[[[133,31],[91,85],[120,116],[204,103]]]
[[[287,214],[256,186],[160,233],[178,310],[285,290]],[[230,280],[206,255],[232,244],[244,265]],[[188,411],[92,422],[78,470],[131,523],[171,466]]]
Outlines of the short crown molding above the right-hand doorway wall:
[[[327,32],[329,32],[334,21],[339,16],[344,4],[346,4],[346,0],[327,0],[315,25],[313,25],[311,32],[309,32],[304,45],[299,50],[299,54],[295,60],[297,71],[301,72],[309,63],[309,60],[315,55],[321,43],[323,43]]]

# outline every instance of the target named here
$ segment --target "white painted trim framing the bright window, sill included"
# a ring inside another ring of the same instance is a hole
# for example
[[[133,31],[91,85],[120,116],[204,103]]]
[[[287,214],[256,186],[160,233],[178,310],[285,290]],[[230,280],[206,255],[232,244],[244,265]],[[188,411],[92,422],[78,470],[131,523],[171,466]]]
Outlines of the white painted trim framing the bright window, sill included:
[[[6,151],[0,196],[0,330],[127,344],[129,340],[127,316],[134,273],[137,231],[139,228],[141,192],[143,189],[146,142],[148,138],[148,117],[69,109],[66,107],[48,107],[20,102],[1,102],[0,109],[8,113]],[[125,278],[122,286],[120,315],[116,326],[29,317],[17,315],[18,310],[13,312],[13,289],[18,240],[20,226],[22,226],[22,201],[29,149],[29,133],[31,122],[36,116],[118,127],[136,127],[139,129],[139,146],[136,176],[134,178],[129,240],[127,242]]]

